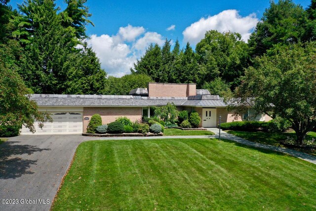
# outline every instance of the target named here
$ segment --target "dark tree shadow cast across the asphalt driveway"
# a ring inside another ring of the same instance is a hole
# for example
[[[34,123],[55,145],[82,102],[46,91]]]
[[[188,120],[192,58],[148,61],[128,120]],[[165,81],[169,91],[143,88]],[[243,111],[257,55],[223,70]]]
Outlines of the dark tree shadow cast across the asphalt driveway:
[[[0,179],[20,177],[23,174],[32,174],[31,165],[36,165],[37,160],[28,160],[17,155],[32,155],[43,150],[32,145],[19,145],[19,141],[6,141],[0,145]]]

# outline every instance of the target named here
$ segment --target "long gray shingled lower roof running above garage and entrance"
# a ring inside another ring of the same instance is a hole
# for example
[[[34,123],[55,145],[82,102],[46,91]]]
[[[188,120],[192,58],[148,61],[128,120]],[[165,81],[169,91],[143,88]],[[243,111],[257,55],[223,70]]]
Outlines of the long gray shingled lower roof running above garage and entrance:
[[[189,97],[144,97],[133,95],[76,95],[76,94],[32,94],[39,106],[80,107],[147,107],[174,103],[176,106],[225,107],[218,95],[197,95]]]

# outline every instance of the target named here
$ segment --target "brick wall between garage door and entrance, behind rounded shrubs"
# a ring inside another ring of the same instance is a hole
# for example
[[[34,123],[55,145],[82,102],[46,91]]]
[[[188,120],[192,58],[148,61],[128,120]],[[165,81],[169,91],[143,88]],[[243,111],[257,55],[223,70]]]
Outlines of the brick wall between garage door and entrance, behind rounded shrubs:
[[[132,122],[142,120],[142,108],[102,108],[102,107],[85,107],[83,108],[83,132],[86,132],[89,121],[94,114],[100,114],[102,124],[109,124],[115,121],[116,118],[125,116]],[[84,120],[88,117],[89,120]]]

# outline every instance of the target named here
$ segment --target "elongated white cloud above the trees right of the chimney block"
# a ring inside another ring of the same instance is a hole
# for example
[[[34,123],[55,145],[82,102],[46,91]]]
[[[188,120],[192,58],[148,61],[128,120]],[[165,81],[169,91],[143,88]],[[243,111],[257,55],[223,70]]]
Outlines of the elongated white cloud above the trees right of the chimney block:
[[[242,40],[247,42],[251,30],[254,29],[258,21],[254,13],[241,17],[235,9],[224,10],[217,15],[201,18],[187,27],[182,34],[185,42],[190,42],[194,45],[202,40],[205,32],[209,30],[237,32],[241,35]]]

